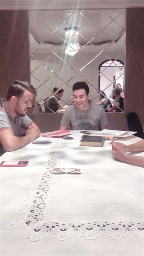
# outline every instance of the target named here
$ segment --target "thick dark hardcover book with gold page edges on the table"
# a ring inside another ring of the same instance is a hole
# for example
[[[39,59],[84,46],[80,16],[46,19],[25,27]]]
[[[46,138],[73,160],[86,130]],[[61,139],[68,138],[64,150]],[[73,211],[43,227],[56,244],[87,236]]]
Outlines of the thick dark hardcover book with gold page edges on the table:
[[[83,135],[80,146],[102,147],[104,141],[104,137]]]

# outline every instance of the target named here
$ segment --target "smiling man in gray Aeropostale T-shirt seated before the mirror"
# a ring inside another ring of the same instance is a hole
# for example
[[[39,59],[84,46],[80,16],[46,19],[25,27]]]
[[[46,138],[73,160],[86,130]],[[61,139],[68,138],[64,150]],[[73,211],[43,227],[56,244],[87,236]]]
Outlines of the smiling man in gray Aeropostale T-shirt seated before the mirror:
[[[105,110],[98,104],[89,102],[89,87],[85,82],[73,85],[74,104],[63,114],[60,130],[103,130],[108,120]]]

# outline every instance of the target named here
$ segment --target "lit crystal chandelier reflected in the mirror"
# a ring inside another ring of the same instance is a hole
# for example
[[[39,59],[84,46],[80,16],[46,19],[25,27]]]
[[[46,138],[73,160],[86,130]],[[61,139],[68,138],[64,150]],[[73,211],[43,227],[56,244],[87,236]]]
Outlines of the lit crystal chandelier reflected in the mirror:
[[[67,41],[65,54],[70,56],[74,56],[74,54],[80,50],[79,33],[77,29],[76,27],[65,29],[65,40]]]

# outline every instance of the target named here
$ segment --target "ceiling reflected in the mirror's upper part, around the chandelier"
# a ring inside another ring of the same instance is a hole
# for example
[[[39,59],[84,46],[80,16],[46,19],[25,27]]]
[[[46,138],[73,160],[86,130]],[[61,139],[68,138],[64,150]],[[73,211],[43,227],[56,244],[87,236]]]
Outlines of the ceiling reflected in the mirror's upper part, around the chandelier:
[[[125,50],[125,9],[31,10],[31,52],[62,52],[66,27],[78,28],[81,53]]]

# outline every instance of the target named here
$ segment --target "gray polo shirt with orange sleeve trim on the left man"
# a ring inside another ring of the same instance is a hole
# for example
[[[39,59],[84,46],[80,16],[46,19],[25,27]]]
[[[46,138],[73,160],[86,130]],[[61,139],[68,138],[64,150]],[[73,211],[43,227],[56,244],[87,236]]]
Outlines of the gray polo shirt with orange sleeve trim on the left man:
[[[0,111],[0,132],[3,130],[11,129],[14,136],[22,135],[22,128],[26,129],[30,125],[32,120],[27,115],[16,116],[16,118],[14,119],[10,115],[5,102],[2,101],[2,103],[4,108]],[[5,150],[0,143],[0,155],[2,155],[3,153],[5,153]]]

